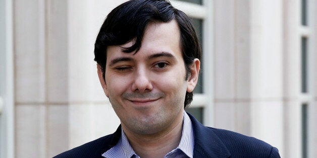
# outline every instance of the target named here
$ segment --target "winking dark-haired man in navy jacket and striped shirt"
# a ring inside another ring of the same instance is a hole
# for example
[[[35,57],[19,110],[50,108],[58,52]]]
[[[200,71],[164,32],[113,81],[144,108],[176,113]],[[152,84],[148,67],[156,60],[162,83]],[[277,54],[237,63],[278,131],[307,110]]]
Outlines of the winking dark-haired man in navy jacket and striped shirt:
[[[205,127],[184,111],[201,50],[189,18],[168,1],[132,0],[115,8],[94,53],[121,125],[56,157],[279,157],[261,140]]]

